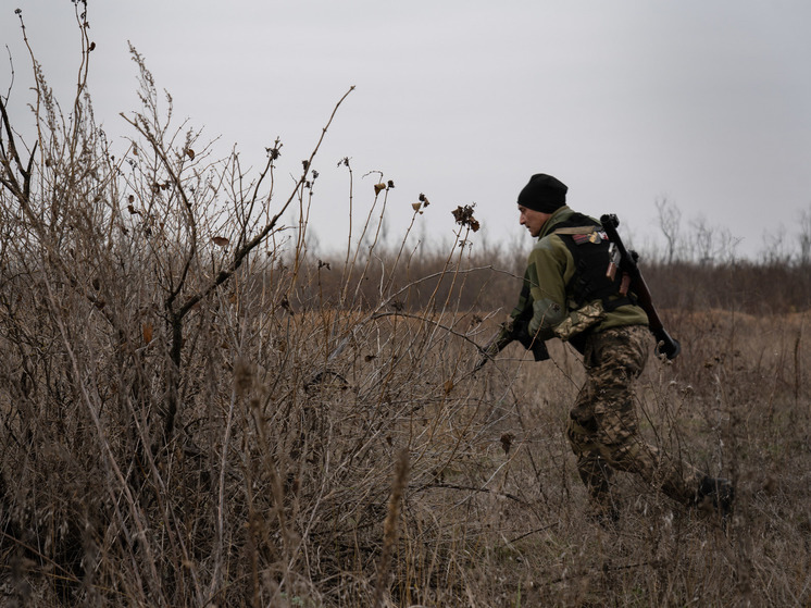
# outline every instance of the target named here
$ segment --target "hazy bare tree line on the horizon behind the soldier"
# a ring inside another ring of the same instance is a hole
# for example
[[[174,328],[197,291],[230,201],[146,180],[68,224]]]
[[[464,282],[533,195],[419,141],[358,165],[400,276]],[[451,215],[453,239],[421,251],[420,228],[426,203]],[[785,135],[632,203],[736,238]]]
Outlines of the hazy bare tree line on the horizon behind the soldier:
[[[678,207],[667,198],[656,201],[663,246],[637,248],[639,263],[658,306],[679,310],[725,309],[751,314],[781,314],[811,309],[811,207],[798,215],[793,229],[764,234],[763,250],[748,259],[737,255],[738,239],[727,227],[710,225],[697,218],[685,223]],[[392,235],[388,235],[392,236]],[[424,235],[423,235],[424,237]],[[413,235],[412,235],[413,238]],[[633,234],[627,237],[634,248]],[[361,302],[379,301],[379,285],[410,285],[398,300],[422,309],[435,290],[444,299],[458,299],[460,310],[476,314],[509,312],[521,287],[529,240],[494,244],[485,237],[461,244],[462,256],[454,268],[464,272],[453,280],[440,272],[448,263],[447,247],[412,244],[407,263],[395,264],[402,243],[380,239],[374,247],[374,263],[364,263],[359,278]],[[313,249],[313,252],[317,247]],[[320,255],[320,253],[319,253]],[[310,272],[328,300],[337,297],[339,256],[324,256]],[[447,270],[447,269],[446,269]],[[414,282],[415,277],[421,277]]]

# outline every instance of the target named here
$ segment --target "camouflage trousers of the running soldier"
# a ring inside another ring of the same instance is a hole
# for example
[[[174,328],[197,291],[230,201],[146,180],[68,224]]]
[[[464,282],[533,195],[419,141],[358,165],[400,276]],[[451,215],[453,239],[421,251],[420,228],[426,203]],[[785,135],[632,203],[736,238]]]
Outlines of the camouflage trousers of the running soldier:
[[[695,500],[699,471],[645,443],[637,431],[634,384],[649,348],[650,334],[641,325],[607,330],[586,340],[586,383],[570,412],[566,435],[596,508],[612,505],[614,470],[636,473],[684,505]]]

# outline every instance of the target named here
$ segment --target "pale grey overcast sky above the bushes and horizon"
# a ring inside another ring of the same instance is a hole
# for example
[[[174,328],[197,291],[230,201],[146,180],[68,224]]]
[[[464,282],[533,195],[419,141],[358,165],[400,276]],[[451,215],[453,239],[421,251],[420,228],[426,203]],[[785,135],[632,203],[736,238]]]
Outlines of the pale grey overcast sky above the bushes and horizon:
[[[313,229],[346,239],[382,171],[389,233],[432,201],[420,234],[454,229],[476,203],[479,241],[528,247],[515,199],[533,173],[569,185],[575,209],[617,213],[638,247],[658,238],[654,202],[727,229],[739,256],[811,209],[811,2],[808,0],[140,0],[89,1],[91,94],[108,135],[136,109],[127,41],[179,117],[259,164],[276,137],[283,175],[300,170],[338,99],[316,158]],[[70,100],[78,36],[67,0],[0,0],[15,69],[12,108],[30,98],[14,9],[46,74]],[[0,67],[0,89],[10,62]],[[475,243],[475,241],[474,241]],[[475,247],[475,244],[474,244]]]

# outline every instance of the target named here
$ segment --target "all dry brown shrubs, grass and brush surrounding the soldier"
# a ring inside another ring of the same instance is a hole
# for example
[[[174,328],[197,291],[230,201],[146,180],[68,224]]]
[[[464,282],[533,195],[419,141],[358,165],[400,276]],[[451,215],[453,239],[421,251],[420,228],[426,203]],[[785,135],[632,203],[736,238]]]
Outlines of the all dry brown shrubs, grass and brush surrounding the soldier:
[[[462,221],[447,255],[311,259],[278,222],[315,152],[288,193],[278,144],[214,162],[134,57],[121,158],[84,90],[65,119],[40,75],[36,146],[3,113],[3,605],[811,601],[803,269],[646,268],[683,353],[640,380],[644,433],[737,502],[723,528],[626,475],[603,528],[562,432],[578,356],[471,373],[521,256]]]

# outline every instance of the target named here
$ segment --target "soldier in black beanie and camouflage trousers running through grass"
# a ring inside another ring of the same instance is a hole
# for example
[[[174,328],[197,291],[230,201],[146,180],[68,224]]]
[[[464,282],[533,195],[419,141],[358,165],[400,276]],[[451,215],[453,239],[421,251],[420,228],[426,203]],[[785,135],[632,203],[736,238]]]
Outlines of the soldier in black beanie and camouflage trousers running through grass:
[[[520,222],[537,243],[529,253],[519,303],[478,367],[513,339],[548,358],[558,337],[583,355],[586,382],[570,412],[566,436],[588,489],[592,513],[616,518],[613,471],[640,475],[685,506],[709,505],[726,517],[732,484],[712,479],[644,442],[637,432],[634,381],[648,359],[648,315],[628,290],[627,275],[610,269],[610,243],[600,223],[566,203],[566,186],[533,175],[519,195]]]

